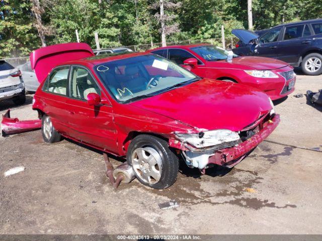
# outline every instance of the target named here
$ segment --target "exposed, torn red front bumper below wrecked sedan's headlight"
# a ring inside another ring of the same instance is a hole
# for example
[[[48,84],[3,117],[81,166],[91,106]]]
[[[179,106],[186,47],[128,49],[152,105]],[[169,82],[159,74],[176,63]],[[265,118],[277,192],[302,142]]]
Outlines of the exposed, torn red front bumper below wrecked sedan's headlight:
[[[197,167],[201,171],[204,171],[209,164],[231,168],[237,165],[250,151],[263,142],[275,130],[279,122],[279,114],[274,114],[267,122],[263,123],[263,128],[251,138],[233,147],[220,150],[213,150],[211,148],[202,151],[189,150],[183,143],[172,139],[169,140],[169,146],[181,149],[187,165]]]

